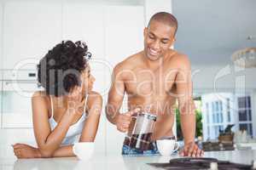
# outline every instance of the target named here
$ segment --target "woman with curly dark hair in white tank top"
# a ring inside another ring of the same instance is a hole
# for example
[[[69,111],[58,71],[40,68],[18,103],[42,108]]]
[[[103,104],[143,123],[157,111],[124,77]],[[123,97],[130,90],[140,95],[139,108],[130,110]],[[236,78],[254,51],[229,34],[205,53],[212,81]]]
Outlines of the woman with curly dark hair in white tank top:
[[[73,143],[93,142],[102,111],[102,96],[92,91],[90,53],[84,42],[61,42],[40,60],[32,95],[32,120],[38,148],[15,144],[18,158],[75,156]]]

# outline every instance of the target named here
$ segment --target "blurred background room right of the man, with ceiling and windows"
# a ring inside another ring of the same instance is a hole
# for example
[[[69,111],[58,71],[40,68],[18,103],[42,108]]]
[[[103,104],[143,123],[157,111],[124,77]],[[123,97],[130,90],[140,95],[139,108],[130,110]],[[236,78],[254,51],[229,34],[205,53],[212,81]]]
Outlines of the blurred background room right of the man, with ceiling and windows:
[[[174,48],[188,54],[192,65],[196,136],[212,142],[205,150],[234,149],[219,142],[256,147],[255,7],[250,0],[172,0],[179,22]],[[179,123],[177,138],[183,139]]]

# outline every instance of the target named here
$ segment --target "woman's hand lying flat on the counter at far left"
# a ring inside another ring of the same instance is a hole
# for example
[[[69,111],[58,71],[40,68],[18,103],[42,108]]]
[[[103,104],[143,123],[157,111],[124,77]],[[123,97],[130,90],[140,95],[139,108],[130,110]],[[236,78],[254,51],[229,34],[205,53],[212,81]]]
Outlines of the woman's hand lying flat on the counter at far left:
[[[38,148],[34,148],[28,144],[14,144],[15,156],[17,158],[40,158],[41,154]]]

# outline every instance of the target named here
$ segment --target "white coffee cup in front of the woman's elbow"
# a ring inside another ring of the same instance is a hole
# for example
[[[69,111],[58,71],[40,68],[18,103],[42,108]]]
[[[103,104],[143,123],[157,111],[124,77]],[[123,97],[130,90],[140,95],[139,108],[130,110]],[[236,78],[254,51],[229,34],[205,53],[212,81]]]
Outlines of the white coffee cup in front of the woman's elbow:
[[[93,142],[77,142],[73,144],[73,153],[79,157],[79,160],[89,160],[94,152]]]

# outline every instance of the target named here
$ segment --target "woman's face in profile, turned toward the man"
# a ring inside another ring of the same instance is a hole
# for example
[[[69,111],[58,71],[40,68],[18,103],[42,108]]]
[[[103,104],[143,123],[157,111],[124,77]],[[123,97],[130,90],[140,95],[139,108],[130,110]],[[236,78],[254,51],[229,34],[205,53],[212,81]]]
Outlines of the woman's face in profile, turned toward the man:
[[[95,77],[90,74],[90,65],[87,65],[85,70],[81,74],[82,80],[82,92],[84,94],[89,93],[93,88],[93,83],[95,82]]]

